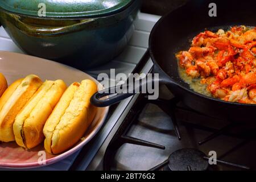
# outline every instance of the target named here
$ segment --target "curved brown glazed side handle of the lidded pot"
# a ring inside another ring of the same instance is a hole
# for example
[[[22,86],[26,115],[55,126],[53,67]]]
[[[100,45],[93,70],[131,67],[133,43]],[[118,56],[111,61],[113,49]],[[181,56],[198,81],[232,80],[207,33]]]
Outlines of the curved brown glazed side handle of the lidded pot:
[[[41,36],[53,36],[53,35],[60,35],[60,34],[80,31],[85,26],[88,26],[88,23],[96,20],[95,18],[80,20],[79,23],[75,23],[75,24],[71,24],[63,27],[36,27],[23,22],[19,15],[15,15],[15,14],[8,14],[8,15],[11,19],[15,21],[15,26],[19,28],[19,30],[26,32],[26,34],[41,35]]]

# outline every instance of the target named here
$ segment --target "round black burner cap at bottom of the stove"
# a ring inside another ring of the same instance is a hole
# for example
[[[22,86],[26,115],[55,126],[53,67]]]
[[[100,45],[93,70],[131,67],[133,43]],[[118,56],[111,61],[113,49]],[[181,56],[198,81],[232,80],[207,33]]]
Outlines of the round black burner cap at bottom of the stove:
[[[182,148],[169,157],[168,167],[172,171],[205,171],[209,163],[203,152],[193,148]]]

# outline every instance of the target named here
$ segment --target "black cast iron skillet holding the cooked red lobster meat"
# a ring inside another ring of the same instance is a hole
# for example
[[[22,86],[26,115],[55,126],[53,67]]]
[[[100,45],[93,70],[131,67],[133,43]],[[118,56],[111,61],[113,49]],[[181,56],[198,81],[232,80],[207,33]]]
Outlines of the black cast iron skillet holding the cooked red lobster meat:
[[[208,15],[209,3],[216,3],[217,17]],[[164,16],[153,28],[149,51],[154,67],[152,73],[159,73],[159,82],[185,105],[212,117],[229,119],[230,122],[256,122],[256,105],[225,102],[193,92],[179,77],[175,53],[188,49],[192,39],[206,29],[216,31],[234,25],[256,25],[256,1],[191,1],[187,5]],[[146,78],[142,85],[146,84]],[[110,88],[113,90],[114,88]],[[96,93],[91,98],[98,107],[115,104],[133,94],[117,94],[107,100],[100,98],[109,94]]]

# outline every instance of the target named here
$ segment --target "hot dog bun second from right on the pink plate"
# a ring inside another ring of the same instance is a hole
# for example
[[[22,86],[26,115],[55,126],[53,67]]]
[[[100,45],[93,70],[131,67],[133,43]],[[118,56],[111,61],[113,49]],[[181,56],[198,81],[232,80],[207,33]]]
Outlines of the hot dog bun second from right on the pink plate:
[[[13,131],[16,143],[33,148],[44,139],[43,127],[67,86],[63,80],[46,81],[17,115]]]

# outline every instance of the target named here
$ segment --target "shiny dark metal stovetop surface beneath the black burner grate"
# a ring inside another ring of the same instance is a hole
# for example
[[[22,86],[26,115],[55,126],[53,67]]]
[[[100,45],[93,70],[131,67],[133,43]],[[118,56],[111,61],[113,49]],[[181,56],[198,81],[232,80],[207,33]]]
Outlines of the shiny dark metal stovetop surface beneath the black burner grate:
[[[172,94],[164,85],[160,90],[162,92],[161,96],[165,100],[172,97]],[[181,148],[194,148],[204,152],[206,156],[210,151],[214,151],[217,154],[217,160],[256,169],[255,138],[246,135],[251,132],[253,134],[256,131],[247,131],[256,129],[255,125],[247,126],[247,128],[246,126],[230,127],[229,130],[199,145],[200,141],[214,132],[220,131],[220,129],[229,125],[229,122],[187,111],[185,106],[179,105],[181,109],[177,109],[175,113],[181,140],[177,139],[170,115],[166,114],[157,105],[146,104],[125,135],[160,144],[165,146],[165,149],[125,143],[116,151],[114,161],[109,164],[110,169],[148,170],[164,162],[172,152]],[[244,130],[245,128],[247,130]],[[242,133],[242,131],[245,135],[236,135]],[[165,166],[161,168],[161,170],[163,169],[169,168]],[[210,165],[208,170],[241,170],[241,168],[217,162],[217,165]]]

